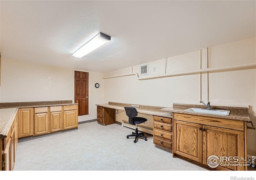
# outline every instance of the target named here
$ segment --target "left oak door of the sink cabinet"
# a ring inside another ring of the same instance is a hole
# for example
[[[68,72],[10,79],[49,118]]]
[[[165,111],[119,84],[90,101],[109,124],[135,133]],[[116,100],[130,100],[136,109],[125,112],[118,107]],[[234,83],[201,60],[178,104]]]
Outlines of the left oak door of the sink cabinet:
[[[202,162],[202,125],[174,120],[175,154]]]

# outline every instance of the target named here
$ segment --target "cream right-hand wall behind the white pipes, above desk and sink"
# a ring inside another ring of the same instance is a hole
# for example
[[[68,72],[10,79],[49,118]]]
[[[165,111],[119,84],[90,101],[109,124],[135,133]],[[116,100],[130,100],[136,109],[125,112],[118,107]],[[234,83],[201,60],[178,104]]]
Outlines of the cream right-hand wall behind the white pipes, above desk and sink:
[[[222,67],[255,62],[256,38],[208,48],[208,67]],[[205,50],[202,50],[204,52]],[[200,69],[200,50],[167,58],[166,73]],[[203,66],[203,63],[202,63]],[[139,74],[139,65],[132,67]],[[152,72],[156,67],[156,72]],[[162,74],[163,60],[149,62],[149,75]],[[107,76],[126,74],[130,68],[109,72]],[[201,88],[202,84],[202,88]],[[123,102],[170,107],[173,103],[200,104],[200,100],[218,106],[250,108],[256,125],[256,70],[226,72],[137,80],[125,76],[105,80],[105,102]],[[202,98],[201,98],[202,97]],[[248,130],[248,154],[256,154],[256,131]]]

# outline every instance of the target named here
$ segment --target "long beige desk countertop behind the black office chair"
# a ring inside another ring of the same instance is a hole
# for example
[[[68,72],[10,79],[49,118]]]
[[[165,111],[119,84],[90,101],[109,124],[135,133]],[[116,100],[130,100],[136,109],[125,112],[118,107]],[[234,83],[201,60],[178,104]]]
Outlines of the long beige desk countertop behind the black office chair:
[[[117,109],[117,110],[124,110],[125,106],[131,107],[132,104],[108,102],[108,104],[96,104],[96,106],[102,106],[102,107],[112,108],[112,109]],[[136,108],[138,113],[172,118],[172,113],[161,111],[161,109],[165,108],[165,107],[139,105],[138,108],[137,107],[134,107],[134,108]]]

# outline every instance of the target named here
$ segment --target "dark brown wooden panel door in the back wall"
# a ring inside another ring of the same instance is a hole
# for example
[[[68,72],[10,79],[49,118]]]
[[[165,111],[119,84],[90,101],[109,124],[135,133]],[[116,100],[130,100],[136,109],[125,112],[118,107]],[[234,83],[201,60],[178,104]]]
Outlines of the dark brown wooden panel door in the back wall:
[[[78,103],[78,116],[88,113],[89,73],[75,71],[75,103]]]

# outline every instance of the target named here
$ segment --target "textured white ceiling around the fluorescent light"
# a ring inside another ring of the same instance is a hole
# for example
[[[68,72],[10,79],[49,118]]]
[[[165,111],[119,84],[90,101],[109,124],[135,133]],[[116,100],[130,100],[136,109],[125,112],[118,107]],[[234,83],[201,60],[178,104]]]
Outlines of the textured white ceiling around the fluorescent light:
[[[255,37],[256,1],[1,1],[2,59],[108,72]],[[99,32],[111,41],[71,54]]]

